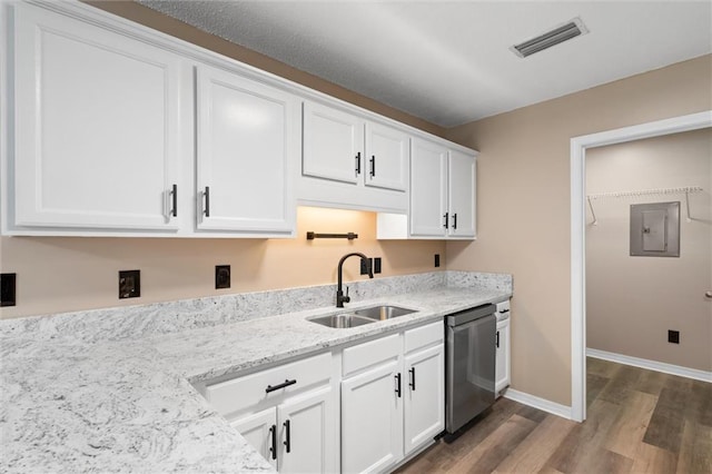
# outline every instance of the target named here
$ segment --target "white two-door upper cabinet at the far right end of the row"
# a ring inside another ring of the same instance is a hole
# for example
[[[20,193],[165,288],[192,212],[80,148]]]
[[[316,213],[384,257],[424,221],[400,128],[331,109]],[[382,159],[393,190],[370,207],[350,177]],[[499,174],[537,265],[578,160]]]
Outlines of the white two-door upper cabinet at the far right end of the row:
[[[411,237],[475,237],[475,152],[414,139],[411,156]],[[388,216],[384,217],[384,221]],[[383,238],[388,236],[382,235]]]

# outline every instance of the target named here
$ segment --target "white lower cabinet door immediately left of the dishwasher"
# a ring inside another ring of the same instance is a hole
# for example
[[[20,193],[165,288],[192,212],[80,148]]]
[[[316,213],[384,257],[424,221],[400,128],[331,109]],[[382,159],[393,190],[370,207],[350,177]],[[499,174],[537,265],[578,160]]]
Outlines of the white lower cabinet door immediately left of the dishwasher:
[[[405,358],[405,455],[445,428],[445,348],[441,344]]]

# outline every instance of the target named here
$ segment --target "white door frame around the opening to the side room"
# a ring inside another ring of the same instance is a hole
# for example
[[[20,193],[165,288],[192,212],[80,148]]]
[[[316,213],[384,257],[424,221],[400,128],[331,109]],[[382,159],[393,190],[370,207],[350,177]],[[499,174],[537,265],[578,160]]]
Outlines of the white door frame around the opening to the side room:
[[[571,139],[571,419],[586,419],[586,149],[712,127],[712,110]]]

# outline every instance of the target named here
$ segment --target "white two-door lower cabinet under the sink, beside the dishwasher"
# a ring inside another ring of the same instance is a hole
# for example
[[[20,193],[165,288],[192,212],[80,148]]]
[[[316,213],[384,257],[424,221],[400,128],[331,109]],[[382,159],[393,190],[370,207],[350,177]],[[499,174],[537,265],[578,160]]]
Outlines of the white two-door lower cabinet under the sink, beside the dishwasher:
[[[344,349],[342,472],[385,472],[444,423],[441,322]]]

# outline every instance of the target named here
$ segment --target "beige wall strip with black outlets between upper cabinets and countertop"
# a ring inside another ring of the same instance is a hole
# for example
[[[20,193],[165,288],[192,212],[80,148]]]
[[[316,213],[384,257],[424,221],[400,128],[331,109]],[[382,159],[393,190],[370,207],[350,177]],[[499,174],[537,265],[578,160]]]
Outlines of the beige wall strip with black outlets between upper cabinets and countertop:
[[[189,239],[105,237],[2,237],[0,269],[18,274],[18,306],[2,318],[136,305],[229,293],[336,283],[348,251],[383,258],[376,277],[433,271],[442,241],[376,240],[376,215],[300,207],[296,239]],[[307,230],[358,234],[358,239],[306,240]],[[215,289],[215,266],[231,266],[231,288]],[[118,299],[118,271],[141,270],[141,297]],[[359,261],[344,280],[363,279]],[[441,268],[442,269],[442,268]]]

